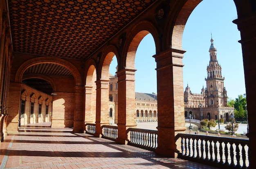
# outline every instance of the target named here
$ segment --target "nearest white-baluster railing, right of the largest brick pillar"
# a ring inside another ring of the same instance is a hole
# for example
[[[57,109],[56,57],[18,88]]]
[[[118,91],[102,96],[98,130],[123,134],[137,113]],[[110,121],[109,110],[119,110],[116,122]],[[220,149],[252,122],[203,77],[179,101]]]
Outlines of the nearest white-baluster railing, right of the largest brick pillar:
[[[249,140],[197,134],[177,134],[176,138],[181,138],[179,158],[204,161],[216,167],[246,169],[249,166]]]

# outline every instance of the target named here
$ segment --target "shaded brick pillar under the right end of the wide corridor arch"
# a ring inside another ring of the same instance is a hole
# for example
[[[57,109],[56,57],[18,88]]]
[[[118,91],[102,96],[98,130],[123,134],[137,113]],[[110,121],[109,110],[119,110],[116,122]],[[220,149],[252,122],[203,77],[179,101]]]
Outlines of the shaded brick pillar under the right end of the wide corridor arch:
[[[74,93],[74,129],[75,133],[83,133],[85,131],[85,87],[75,86]]]

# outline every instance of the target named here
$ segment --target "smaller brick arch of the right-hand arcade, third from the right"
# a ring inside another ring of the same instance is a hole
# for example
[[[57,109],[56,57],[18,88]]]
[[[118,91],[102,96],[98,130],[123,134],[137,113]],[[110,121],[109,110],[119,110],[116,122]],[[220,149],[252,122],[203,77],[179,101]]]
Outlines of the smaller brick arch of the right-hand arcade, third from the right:
[[[99,66],[99,78],[109,79],[109,66],[114,56],[117,56],[117,63],[119,63],[119,57],[117,55],[117,48],[113,45],[109,45],[102,54],[102,59]]]

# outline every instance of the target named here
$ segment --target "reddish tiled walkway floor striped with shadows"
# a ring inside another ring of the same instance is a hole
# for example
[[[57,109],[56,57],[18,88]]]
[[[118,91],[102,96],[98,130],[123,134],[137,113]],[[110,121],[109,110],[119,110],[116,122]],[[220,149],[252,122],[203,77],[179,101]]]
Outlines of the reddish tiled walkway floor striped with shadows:
[[[21,127],[19,134],[7,136],[0,145],[0,169],[217,169],[48,126]]]

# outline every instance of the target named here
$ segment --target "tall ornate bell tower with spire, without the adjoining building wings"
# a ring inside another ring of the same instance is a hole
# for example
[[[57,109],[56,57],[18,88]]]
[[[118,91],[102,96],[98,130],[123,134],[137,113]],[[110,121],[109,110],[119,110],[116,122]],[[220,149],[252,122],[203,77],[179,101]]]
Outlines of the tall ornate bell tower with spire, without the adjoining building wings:
[[[211,46],[209,49],[210,61],[207,66],[206,90],[204,100],[207,107],[227,106],[227,91],[224,87],[224,79],[221,73],[221,66],[217,60],[217,49],[213,44],[211,36]]]

